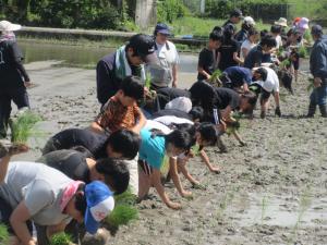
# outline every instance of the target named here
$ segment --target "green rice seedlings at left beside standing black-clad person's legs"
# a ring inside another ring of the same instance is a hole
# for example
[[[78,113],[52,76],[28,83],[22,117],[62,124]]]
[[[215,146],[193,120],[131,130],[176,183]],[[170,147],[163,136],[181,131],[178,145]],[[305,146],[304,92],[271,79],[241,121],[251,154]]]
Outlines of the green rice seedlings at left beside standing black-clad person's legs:
[[[19,113],[10,122],[11,142],[26,143],[28,137],[34,134],[34,125],[39,121],[41,121],[41,118],[29,110]]]

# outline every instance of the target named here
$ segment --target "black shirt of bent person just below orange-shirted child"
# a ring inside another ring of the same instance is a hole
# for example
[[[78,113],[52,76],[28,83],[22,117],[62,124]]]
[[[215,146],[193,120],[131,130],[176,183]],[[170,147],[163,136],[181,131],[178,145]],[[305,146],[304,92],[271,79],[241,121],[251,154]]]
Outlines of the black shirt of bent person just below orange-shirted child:
[[[68,128],[52,136],[43,149],[43,155],[60,150],[70,149],[75,146],[84,146],[95,158],[105,157],[104,148],[108,136],[97,134],[89,130]]]

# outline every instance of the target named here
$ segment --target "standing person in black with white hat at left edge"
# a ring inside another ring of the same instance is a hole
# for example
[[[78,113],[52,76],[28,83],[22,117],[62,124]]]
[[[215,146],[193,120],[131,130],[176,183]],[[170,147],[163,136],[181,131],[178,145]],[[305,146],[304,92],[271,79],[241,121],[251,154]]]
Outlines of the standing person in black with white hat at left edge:
[[[21,27],[9,21],[0,22],[0,138],[7,136],[11,101],[19,110],[29,108],[26,87],[31,85],[31,81],[22,64],[24,57],[13,33]]]

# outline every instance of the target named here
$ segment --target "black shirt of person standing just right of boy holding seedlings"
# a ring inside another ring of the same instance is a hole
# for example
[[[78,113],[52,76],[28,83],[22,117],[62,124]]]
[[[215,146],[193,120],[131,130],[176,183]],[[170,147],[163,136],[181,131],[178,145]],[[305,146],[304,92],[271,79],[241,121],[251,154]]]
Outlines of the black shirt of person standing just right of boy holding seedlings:
[[[218,68],[220,71],[223,71],[227,68],[238,65],[238,62],[234,61],[233,54],[239,51],[238,41],[231,39],[229,41],[223,42],[218,52],[220,52],[220,61]]]

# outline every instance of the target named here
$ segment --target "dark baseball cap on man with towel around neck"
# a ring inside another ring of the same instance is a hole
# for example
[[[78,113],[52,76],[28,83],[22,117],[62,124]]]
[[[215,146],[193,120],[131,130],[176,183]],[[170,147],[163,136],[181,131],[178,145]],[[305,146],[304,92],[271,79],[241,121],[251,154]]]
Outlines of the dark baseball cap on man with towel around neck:
[[[132,36],[129,46],[145,63],[158,63],[155,53],[155,40],[149,35],[136,34]]]

